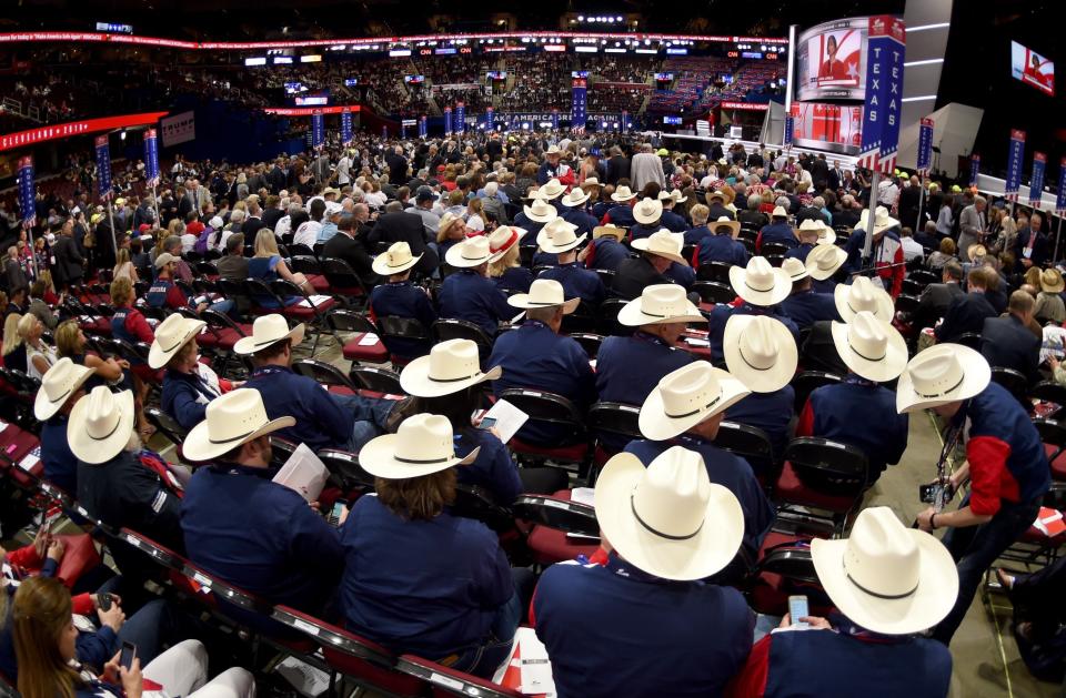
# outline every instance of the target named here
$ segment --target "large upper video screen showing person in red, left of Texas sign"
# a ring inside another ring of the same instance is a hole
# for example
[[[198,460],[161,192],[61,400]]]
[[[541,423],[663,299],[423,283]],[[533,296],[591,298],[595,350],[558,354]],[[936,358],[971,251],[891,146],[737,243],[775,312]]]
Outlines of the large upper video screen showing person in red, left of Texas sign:
[[[812,27],[796,39],[796,99],[865,97],[869,19],[853,17]]]

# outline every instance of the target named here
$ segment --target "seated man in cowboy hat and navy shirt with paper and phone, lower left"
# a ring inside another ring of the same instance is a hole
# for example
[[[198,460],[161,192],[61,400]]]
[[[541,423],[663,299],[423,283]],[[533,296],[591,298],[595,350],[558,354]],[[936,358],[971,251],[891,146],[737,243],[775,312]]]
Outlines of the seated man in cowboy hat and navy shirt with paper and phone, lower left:
[[[320,615],[344,556],[338,529],[302,494],[271,479],[278,471],[270,435],[294,424],[291,416],[271,419],[255,390],[212,401],[182,444],[184,457],[202,465],[181,503],[181,529],[189,558],[205,571],[271,604]],[[262,631],[281,630],[265,616],[229,610]]]

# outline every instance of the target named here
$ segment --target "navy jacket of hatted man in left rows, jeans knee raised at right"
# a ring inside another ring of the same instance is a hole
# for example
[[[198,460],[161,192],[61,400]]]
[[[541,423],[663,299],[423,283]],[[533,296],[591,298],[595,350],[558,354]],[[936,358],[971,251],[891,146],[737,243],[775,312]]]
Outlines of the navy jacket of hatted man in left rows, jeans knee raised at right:
[[[313,378],[294,374],[282,366],[261,366],[244,387],[259,391],[271,419],[291,416],[293,426],[274,432],[295,444],[318,452],[343,448],[352,438],[355,416],[333,398]]]

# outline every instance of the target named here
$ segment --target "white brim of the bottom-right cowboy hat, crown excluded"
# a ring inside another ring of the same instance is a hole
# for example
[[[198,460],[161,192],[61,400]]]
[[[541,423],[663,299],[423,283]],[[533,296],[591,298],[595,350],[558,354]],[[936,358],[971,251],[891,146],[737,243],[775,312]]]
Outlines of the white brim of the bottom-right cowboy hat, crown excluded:
[[[599,487],[599,484],[597,484]],[[958,597],[958,573],[951,553],[934,536],[906,529],[918,547],[918,586],[914,594],[888,599],[859,589],[847,577],[847,540],[811,542],[818,581],[836,608],[857,625],[884,635],[911,635],[943,620]]]

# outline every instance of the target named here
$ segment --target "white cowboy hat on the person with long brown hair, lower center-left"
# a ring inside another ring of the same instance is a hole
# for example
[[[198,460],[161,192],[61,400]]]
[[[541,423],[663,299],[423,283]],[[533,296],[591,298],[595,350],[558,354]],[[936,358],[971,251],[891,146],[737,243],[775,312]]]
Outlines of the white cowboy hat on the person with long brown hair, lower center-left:
[[[370,439],[359,452],[359,464],[374,477],[408,479],[467,465],[480,451],[479,446],[460,458],[447,417],[416,414],[401,422],[395,434]]]

